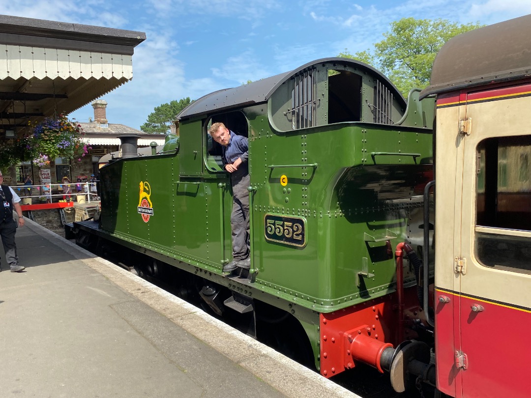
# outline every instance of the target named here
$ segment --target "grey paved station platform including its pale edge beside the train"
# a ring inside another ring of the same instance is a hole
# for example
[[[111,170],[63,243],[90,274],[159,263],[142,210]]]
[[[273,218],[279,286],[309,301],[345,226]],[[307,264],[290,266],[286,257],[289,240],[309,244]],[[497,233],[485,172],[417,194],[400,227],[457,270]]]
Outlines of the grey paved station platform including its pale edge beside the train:
[[[27,220],[0,272],[0,396],[356,394]]]

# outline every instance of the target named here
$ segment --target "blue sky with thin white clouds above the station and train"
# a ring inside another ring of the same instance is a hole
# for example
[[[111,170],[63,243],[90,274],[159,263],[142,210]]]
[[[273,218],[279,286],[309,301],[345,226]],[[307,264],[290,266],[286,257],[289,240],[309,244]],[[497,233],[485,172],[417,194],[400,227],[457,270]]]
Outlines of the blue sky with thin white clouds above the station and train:
[[[531,14],[531,0],[10,0],[0,14],[145,32],[133,79],[102,97],[109,123],[140,128],[161,103],[372,49],[401,18],[489,25]]]

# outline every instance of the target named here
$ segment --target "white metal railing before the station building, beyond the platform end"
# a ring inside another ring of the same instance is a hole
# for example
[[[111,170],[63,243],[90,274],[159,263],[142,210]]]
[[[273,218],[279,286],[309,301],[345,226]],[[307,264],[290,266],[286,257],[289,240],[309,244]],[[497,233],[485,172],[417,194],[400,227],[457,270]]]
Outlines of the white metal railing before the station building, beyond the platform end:
[[[64,186],[68,185],[70,186],[70,193],[65,193],[68,191],[68,189],[64,189]],[[30,204],[30,203],[24,203],[27,201],[24,201],[24,199],[32,199],[33,197],[44,197],[46,198],[46,201],[52,202],[53,198],[63,198],[66,200],[72,200],[72,198],[84,195],[86,198],[86,202],[90,203],[90,201],[96,201],[98,199],[98,193],[96,191],[96,182],[95,181],[87,181],[84,183],[79,183],[81,186],[81,191],[78,192],[78,189],[76,187],[78,183],[70,183],[70,184],[41,184],[41,185],[15,185],[12,186],[13,191],[17,195],[20,196],[22,199],[23,204]],[[77,199],[76,199],[77,200]],[[79,202],[79,200],[77,200]]]

